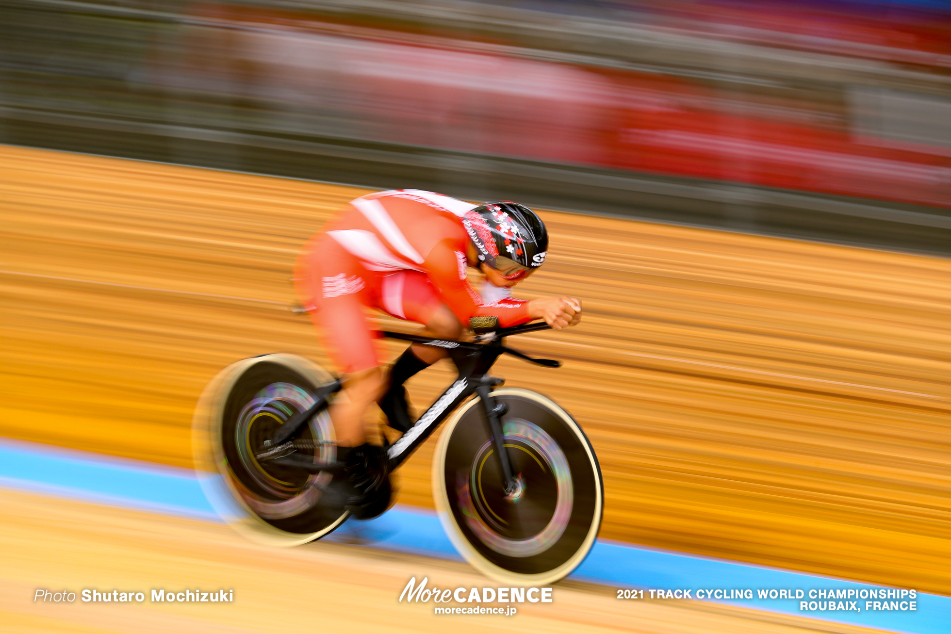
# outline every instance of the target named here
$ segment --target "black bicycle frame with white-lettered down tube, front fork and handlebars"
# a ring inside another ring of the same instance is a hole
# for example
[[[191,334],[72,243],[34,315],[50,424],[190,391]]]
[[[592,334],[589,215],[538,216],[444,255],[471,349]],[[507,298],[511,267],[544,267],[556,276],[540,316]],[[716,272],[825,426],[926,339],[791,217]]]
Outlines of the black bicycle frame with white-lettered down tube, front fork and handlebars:
[[[514,355],[549,368],[559,367],[561,363],[558,361],[533,358],[504,345],[504,338],[506,336],[532,333],[548,328],[550,328],[550,326],[545,323],[500,328],[489,333],[476,335],[476,340],[472,342],[451,341],[430,336],[404,335],[403,333],[382,331],[380,334],[383,336],[445,349],[446,352],[449,353],[449,358],[456,364],[456,370],[458,371],[458,375],[453,384],[436,399],[436,402],[433,403],[428,410],[419,416],[413,427],[390,446],[388,451],[390,470],[396,469],[413,451],[416,451],[417,447],[424,443],[449,414],[453,413],[456,407],[465,399],[472,394],[478,394],[482,400],[486,421],[489,424],[489,431],[492,432],[496,452],[502,462],[502,472],[505,476],[506,490],[511,490],[515,486],[514,475],[509,464],[508,453],[503,451],[502,426],[500,422],[500,416],[505,413],[504,406],[496,406],[490,396],[490,389],[495,385],[502,384],[503,380],[488,376],[487,373],[492,366],[495,365],[495,361],[498,360],[498,357],[506,354]]]

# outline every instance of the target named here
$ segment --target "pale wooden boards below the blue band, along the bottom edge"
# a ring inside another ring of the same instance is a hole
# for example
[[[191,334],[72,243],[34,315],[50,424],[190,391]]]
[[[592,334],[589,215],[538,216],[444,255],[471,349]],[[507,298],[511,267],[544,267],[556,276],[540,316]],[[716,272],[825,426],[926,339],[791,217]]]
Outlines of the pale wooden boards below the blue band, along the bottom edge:
[[[429,587],[496,585],[456,562],[321,542],[269,548],[220,525],[7,490],[0,490],[0,525],[5,634],[877,631],[698,601],[618,601],[611,588],[571,582],[554,587],[552,604],[518,604],[514,616],[437,616],[433,602],[398,602],[411,577],[427,577]],[[34,603],[38,587],[142,591],[147,598],[141,604]],[[152,603],[151,590],[160,588],[233,589],[234,601]]]

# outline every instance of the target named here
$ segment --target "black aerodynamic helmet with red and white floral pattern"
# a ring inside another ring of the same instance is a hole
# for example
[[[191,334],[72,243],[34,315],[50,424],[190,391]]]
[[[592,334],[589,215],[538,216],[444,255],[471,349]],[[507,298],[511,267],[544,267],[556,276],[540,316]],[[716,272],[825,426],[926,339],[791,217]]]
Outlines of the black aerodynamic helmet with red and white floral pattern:
[[[466,212],[462,225],[476,245],[478,259],[503,278],[524,278],[548,255],[545,223],[517,202],[486,202]]]

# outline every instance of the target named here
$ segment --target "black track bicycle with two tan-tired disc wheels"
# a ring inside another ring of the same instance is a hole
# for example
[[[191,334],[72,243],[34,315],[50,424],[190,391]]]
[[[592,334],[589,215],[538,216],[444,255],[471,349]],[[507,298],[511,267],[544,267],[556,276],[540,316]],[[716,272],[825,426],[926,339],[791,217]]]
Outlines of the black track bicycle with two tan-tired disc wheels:
[[[433,460],[439,519],[462,556],[503,583],[565,577],[601,524],[601,471],[581,427],[546,396],[500,387],[503,380],[488,375],[505,354],[560,367],[505,345],[507,336],[548,328],[490,326],[474,329],[472,341],[381,333],[443,348],[456,365],[456,380],[388,446],[390,471],[448,418]],[[211,380],[195,414],[196,459],[221,475],[243,509],[235,528],[294,546],[347,519],[346,510],[320,504],[323,490],[342,477],[327,414],[339,392],[340,380],[287,354],[243,359]]]

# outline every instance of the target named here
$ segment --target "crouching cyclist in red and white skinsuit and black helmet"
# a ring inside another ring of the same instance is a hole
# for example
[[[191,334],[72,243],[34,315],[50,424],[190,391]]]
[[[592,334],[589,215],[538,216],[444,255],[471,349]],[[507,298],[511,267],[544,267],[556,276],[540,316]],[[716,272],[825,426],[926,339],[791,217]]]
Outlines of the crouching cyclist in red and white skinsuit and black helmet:
[[[329,414],[347,477],[324,493],[328,505],[360,519],[386,509],[386,451],[366,442],[363,414],[378,402],[391,427],[408,430],[403,383],[446,355],[413,344],[384,376],[365,309],[416,321],[422,334],[446,339],[461,336],[472,317],[495,318],[501,327],[544,319],[560,330],[580,320],[578,299],[511,297],[547,250],[545,225],[528,207],[476,205],[416,189],[361,196],[307,242],[295,268],[297,291],[343,379],[344,397]],[[485,276],[481,294],[468,267]]]

